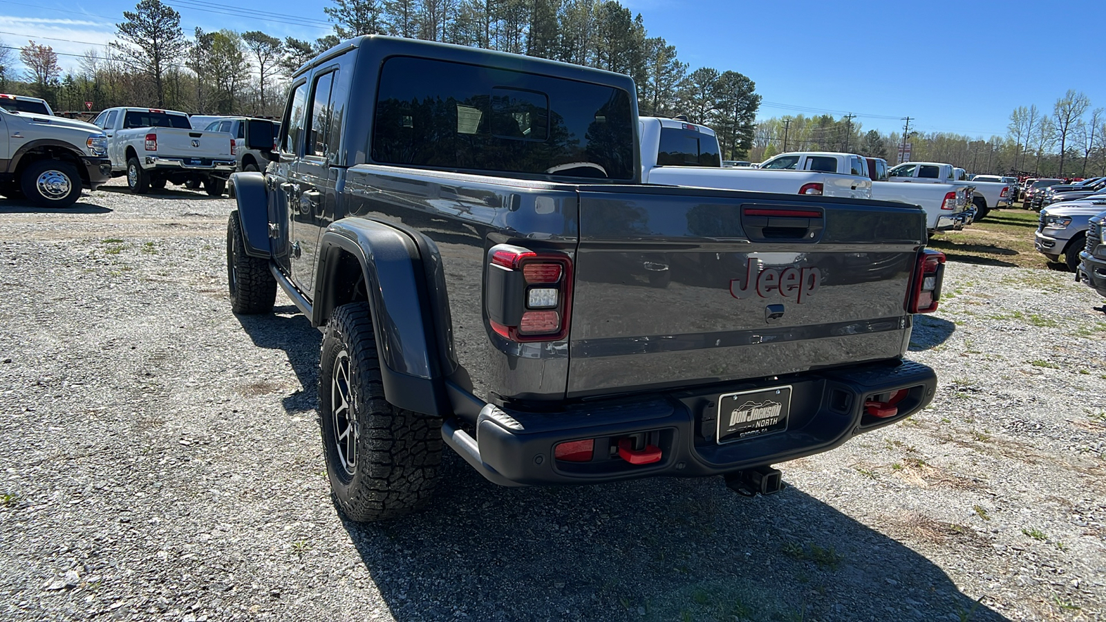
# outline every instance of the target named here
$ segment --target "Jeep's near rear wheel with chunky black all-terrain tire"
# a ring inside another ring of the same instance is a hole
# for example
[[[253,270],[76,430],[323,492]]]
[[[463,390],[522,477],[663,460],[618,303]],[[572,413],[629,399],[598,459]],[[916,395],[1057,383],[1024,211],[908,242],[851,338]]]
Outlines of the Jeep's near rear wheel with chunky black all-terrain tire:
[[[368,303],[343,304],[331,315],[319,381],[326,475],[338,510],[368,522],[426,506],[441,463],[441,419],[385,400]]]

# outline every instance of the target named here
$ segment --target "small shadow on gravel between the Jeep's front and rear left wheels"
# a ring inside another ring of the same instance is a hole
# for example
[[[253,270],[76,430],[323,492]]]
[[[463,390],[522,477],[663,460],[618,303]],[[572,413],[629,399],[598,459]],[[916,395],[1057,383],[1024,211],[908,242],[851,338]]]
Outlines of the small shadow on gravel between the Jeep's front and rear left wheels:
[[[273,309],[272,315],[236,315],[238,323],[258,348],[283,350],[295,377],[304,388],[284,398],[284,410],[294,413],[317,406],[319,348],[323,333],[311,328],[300,310],[289,304]]]

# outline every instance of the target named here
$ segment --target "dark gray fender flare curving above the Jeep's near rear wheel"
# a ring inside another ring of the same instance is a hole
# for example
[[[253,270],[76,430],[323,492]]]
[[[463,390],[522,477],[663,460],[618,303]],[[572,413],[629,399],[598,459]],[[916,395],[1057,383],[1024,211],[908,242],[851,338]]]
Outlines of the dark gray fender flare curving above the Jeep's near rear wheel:
[[[323,231],[312,307],[312,324],[327,322],[344,303],[338,282],[343,253],[357,259],[373,317],[385,397],[395,406],[428,415],[450,413],[437,360],[437,340],[427,322],[429,296],[418,247],[385,224],[343,218]]]

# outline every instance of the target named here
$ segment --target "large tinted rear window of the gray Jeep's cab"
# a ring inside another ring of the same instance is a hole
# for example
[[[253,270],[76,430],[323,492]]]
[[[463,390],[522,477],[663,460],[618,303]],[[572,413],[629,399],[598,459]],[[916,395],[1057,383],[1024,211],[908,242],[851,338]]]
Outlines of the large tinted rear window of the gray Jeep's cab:
[[[380,71],[372,154],[388,164],[632,179],[632,110],[629,94],[611,86],[395,56]]]

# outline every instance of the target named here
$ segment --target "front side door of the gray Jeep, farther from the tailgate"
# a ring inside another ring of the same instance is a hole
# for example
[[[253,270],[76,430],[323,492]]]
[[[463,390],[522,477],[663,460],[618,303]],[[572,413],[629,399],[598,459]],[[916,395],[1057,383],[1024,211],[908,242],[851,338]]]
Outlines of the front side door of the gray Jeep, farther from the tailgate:
[[[273,259],[286,274],[292,274],[290,240],[295,235],[292,206],[296,206],[300,200],[300,189],[295,184],[295,167],[300,154],[303,153],[306,113],[307,82],[303,81],[294,85],[289,94],[288,105],[284,107],[284,122],[281,124],[283,129],[280,134],[276,166],[265,175],[265,188],[269,190],[270,243]]]

